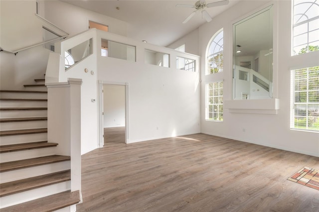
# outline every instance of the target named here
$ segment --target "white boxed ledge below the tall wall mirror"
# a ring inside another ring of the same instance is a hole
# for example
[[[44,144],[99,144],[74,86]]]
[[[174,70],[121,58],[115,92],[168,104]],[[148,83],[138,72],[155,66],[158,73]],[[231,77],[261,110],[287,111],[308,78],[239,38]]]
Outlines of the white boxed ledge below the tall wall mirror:
[[[257,113],[257,114],[277,114],[279,110],[279,99],[263,100],[226,100],[224,108],[229,112]]]

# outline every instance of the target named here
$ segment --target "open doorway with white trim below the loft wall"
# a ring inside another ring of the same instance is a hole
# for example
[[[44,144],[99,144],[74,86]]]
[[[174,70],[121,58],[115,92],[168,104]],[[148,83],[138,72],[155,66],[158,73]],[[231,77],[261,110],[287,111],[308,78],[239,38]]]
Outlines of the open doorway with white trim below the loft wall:
[[[128,84],[100,82],[100,147],[127,143]]]

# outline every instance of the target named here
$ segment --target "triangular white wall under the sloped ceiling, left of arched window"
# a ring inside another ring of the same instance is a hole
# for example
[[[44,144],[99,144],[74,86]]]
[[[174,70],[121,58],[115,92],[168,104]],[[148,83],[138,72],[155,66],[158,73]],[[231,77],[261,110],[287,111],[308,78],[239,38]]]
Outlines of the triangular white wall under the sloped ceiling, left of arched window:
[[[169,44],[167,48],[175,49],[183,44],[185,44],[185,52],[189,54],[199,55],[198,51],[198,28],[191,31],[182,38],[176,40],[175,42]]]

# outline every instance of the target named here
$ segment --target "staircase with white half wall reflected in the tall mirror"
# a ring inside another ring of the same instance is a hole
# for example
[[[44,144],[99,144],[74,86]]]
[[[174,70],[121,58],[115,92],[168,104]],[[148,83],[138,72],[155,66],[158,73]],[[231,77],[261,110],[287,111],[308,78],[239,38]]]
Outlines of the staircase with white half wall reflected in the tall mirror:
[[[236,66],[233,80],[235,100],[272,98],[272,82],[253,69]]]

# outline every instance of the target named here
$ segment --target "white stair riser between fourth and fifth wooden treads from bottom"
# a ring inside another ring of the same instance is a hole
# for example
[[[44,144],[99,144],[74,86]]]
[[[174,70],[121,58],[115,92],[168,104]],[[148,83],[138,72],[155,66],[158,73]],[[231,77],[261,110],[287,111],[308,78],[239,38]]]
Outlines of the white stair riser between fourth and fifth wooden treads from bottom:
[[[45,140],[47,140],[47,133],[0,136],[1,145],[31,143],[31,142],[45,141]]]

